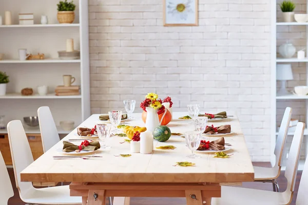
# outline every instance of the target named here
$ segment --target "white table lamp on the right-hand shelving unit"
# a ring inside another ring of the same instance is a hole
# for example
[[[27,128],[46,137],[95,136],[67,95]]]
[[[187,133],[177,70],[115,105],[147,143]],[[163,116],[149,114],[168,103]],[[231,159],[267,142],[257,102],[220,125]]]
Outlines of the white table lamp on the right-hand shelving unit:
[[[276,67],[276,79],[281,80],[281,88],[277,95],[291,94],[286,90],[286,80],[293,80],[291,64],[278,64]]]

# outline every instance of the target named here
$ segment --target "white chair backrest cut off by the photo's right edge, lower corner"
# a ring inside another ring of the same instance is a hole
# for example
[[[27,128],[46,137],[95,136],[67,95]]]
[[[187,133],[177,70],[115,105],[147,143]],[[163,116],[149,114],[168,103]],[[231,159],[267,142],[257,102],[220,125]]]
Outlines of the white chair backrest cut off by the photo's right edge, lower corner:
[[[306,205],[308,202],[308,157],[306,157],[304,170],[299,182],[299,188],[297,192],[296,205]]]

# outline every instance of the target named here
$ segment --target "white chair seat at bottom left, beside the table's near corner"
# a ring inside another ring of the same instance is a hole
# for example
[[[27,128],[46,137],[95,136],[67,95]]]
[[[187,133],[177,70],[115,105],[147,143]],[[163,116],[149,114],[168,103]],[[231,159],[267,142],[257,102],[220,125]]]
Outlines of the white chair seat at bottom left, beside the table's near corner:
[[[22,200],[26,203],[39,204],[81,204],[80,196],[70,196],[69,186],[31,189],[23,195]]]

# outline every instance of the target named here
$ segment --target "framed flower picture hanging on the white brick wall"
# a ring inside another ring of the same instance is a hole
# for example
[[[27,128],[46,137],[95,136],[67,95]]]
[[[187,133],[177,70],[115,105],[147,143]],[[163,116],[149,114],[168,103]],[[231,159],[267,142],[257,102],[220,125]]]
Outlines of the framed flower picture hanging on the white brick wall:
[[[163,0],[164,26],[198,26],[198,0]]]

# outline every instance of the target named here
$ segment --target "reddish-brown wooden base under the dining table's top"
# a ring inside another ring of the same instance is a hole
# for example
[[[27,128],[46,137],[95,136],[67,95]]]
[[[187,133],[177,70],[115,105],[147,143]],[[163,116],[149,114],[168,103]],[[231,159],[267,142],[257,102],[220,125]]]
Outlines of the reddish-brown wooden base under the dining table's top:
[[[129,197],[185,197],[187,205],[210,205],[211,197],[220,197],[219,184],[175,183],[71,183],[71,196],[82,196],[83,205],[105,205],[114,197],[114,205],[129,205]]]

